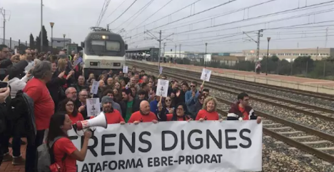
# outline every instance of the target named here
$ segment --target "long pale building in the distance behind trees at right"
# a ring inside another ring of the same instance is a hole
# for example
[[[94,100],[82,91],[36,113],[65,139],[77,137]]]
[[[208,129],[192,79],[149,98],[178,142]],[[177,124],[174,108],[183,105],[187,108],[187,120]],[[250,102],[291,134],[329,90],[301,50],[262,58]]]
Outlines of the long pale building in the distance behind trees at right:
[[[243,55],[246,60],[255,60],[257,58],[257,50],[243,50]],[[262,60],[267,56],[267,50],[260,50],[259,59]],[[279,59],[287,61],[295,60],[299,56],[311,56],[313,60],[321,60],[329,56],[334,56],[334,48],[319,48],[319,49],[269,49],[269,57],[277,56]]]

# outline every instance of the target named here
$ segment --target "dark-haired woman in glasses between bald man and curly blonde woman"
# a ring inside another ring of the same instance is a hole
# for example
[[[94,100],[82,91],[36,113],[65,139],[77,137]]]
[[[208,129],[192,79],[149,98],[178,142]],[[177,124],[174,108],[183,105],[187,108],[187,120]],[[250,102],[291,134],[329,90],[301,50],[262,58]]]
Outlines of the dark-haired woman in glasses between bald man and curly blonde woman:
[[[174,112],[166,114],[166,110],[162,108],[161,103],[158,103],[158,119],[160,121],[190,121],[192,118],[188,113],[187,106],[184,103],[179,103],[175,106]]]

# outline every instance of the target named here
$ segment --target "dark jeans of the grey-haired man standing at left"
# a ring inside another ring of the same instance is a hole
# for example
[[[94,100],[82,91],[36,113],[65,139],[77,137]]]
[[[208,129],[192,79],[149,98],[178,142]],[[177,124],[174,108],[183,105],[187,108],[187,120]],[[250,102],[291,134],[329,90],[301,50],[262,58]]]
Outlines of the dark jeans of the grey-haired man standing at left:
[[[32,138],[27,137],[27,149],[25,160],[25,172],[35,172],[37,163],[37,147],[43,144],[45,130],[37,130],[35,144],[32,144]]]

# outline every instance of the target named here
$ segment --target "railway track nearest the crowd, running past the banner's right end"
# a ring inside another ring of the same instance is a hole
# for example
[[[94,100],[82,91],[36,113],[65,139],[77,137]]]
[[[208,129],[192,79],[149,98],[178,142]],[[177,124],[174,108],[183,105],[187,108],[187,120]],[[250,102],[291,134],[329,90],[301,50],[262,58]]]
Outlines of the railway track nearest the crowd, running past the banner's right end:
[[[133,63],[128,63],[133,64]],[[152,67],[145,67],[143,65],[135,64],[137,68],[145,71],[150,71],[157,75],[157,71],[153,71]],[[164,71],[168,77],[182,79],[186,81],[196,80],[189,77],[177,76],[173,73]],[[205,83],[207,87],[208,83]],[[216,89],[216,88],[215,88]],[[222,90],[223,91],[223,90]],[[225,92],[225,91],[223,91]],[[216,97],[218,100],[218,112],[226,116],[230,105],[233,103],[229,100]],[[260,99],[260,98],[258,98]],[[275,105],[276,106],[276,105]],[[311,155],[317,156],[329,163],[334,163],[334,136],[323,133],[313,128],[298,124],[296,122],[288,121],[283,118],[276,117],[265,112],[255,110],[255,113],[264,118],[263,132],[277,140],[280,140],[293,148],[300,149]]]

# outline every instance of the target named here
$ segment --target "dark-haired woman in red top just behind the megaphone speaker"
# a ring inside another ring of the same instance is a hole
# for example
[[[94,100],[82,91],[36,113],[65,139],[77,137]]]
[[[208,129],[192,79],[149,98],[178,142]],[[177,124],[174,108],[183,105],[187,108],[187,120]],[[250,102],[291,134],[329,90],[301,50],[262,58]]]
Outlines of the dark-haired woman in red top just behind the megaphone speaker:
[[[85,120],[82,114],[78,112],[74,101],[71,99],[65,99],[60,102],[59,112],[66,112],[66,114],[68,114],[70,117],[72,124],[76,123],[77,121]]]

